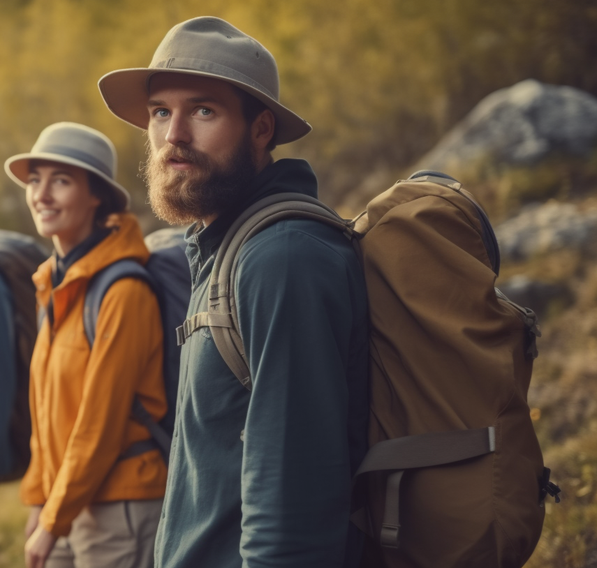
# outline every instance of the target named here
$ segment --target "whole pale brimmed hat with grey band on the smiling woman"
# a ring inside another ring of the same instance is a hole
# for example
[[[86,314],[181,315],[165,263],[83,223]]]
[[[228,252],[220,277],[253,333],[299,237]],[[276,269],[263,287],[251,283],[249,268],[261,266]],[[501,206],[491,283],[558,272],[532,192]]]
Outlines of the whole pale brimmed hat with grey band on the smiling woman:
[[[27,187],[30,160],[49,160],[76,165],[93,172],[114,190],[119,207],[127,209],[131,202],[128,191],[114,180],[116,149],[112,141],[98,130],[76,124],[57,122],[41,131],[28,154],[17,154],[4,162],[4,170],[22,188]]]

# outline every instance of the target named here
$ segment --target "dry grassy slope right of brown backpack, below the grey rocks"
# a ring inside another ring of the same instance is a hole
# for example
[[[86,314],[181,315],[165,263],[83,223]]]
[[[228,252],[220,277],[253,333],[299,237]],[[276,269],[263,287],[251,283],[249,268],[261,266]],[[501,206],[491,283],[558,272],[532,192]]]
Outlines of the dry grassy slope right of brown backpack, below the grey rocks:
[[[547,499],[526,568],[597,568],[597,260],[560,251],[504,268],[507,277],[566,281],[575,294],[573,306],[541,322],[529,405],[563,497],[558,505]]]

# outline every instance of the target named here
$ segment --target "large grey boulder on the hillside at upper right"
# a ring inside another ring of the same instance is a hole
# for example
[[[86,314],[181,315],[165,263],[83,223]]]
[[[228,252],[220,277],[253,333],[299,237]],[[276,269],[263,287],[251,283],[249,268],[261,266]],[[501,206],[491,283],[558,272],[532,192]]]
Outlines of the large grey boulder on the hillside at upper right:
[[[527,79],[485,97],[422,162],[432,170],[486,158],[532,166],[554,151],[587,154],[596,141],[594,96]]]

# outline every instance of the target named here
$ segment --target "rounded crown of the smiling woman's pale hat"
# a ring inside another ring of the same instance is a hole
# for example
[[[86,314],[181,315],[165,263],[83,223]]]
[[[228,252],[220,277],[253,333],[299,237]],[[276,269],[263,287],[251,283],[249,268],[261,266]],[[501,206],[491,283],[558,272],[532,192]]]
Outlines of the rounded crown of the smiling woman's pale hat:
[[[82,124],[59,122],[47,126],[31,148],[31,154],[58,154],[80,160],[111,179],[116,177],[114,145],[98,130]]]

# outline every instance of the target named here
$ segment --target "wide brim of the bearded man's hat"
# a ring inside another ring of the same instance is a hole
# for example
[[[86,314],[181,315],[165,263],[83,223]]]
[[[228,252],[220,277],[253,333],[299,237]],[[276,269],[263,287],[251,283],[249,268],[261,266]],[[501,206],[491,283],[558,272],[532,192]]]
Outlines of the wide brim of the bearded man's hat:
[[[240,81],[228,79],[214,73],[203,71],[169,68],[135,68],[119,69],[101,77],[98,87],[101,96],[110,111],[120,119],[147,130],[149,125],[149,112],[147,100],[149,91],[147,85],[149,77],[155,73],[177,73],[182,75],[198,75],[200,77],[212,77],[227,83],[234,84],[239,89],[246,91],[260,100],[274,113],[276,117],[276,144],[287,144],[294,142],[311,132],[311,125],[297,114],[288,110],[270,96],[254,89],[250,85]]]

